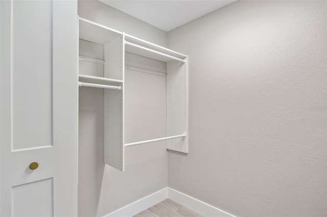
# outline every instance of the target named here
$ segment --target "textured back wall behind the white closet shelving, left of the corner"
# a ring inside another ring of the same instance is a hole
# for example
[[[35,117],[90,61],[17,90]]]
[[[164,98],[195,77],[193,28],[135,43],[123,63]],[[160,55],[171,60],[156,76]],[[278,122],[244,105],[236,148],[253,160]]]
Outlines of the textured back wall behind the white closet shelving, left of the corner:
[[[167,46],[167,33],[98,1],[79,1],[79,15]],[[80,40],[80,55],[103,59],[103,46]],[[137,60],[137,61],[136,61]],[[126,64],[166,72],[166,64],[126,53]],[[103,65],[80,61],[80,73]],[[126,70],[125,142],[166,135],[166,77]],[[125,149],[124,173],[103,164],[103,90],[79,88],[78,215],[103,216],[168,185],[165,142]]]

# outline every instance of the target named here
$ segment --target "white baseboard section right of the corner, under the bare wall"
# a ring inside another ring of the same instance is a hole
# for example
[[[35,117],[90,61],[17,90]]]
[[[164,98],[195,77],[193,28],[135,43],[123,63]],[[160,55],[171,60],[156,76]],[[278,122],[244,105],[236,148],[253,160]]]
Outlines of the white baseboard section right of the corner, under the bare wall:
[[[192,198],[188,195],[178,192],[170,187],[168,187],[168,198],[207,217],[236,217],[235,215],[229,214],[221,209],[218,209],[214,206],[199,201],[198,199]]]

